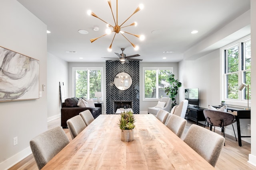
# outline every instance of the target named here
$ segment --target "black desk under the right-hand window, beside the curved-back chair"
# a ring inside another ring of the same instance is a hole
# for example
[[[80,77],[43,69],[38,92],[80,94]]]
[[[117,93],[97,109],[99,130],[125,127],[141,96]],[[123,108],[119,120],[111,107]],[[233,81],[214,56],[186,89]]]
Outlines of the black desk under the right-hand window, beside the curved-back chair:
[[[222,106],[213,106],[216,108],[220,108]],[[251,119],[251,110],[245,110],[239,107],[227,107],[227,111],[232,113],[236,117],[236,125],[237,125],[237,134],[238,134],[238,145],[242,147],[242,137],[251,137],[251,136],[241,136],[240,129],[240,119]]]

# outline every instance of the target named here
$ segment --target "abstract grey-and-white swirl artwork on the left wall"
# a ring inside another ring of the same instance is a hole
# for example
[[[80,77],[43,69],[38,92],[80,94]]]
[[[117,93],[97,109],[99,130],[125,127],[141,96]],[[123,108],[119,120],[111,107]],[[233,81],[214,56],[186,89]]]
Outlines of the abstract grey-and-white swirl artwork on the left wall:
[[[39,61],[0,47],[0,102],[39,98]]]

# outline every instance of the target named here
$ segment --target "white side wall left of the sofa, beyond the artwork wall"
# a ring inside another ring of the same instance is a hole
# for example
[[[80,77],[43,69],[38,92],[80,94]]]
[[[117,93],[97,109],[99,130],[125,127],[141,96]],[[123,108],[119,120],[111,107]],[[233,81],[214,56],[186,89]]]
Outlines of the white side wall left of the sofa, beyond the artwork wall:
[[[59,82],[64,83],[65,96],[68,96],[68,62],[48,53],[46,86],[48,121],[60,117]]]

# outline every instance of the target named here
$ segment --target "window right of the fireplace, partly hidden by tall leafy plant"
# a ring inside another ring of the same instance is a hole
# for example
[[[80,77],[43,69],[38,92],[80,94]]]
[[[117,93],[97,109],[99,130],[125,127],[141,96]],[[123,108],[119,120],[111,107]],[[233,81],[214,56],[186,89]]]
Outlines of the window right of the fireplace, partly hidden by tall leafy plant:
[[[173,67],[143,67],[143,100],[158,100],[166,95],[165,87],[170,86],[168,75]]]

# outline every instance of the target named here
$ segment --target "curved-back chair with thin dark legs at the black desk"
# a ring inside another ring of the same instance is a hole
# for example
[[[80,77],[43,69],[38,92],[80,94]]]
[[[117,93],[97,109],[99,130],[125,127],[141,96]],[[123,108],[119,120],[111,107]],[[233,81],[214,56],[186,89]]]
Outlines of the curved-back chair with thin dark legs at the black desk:
[[[210,130],[212,130],[212,126],[214,126],[214,132],[215,132],[216,126],[221,127],[224,138],[225,138],[224,127],[228,126],[228,125],[232,125],[234,134],[235,134],[235,138],[236,138],[236,133],[235,133],[235,129],[233,126],[233,123],[236,122],[236,118],[232,113],[204,109],[204,117],[206,119],[205,123],[204,123],[204,127],[206,126],[206,122],[208,122],[207,124],[210,124]],[[236,141],[237,141],[237,139],[236,139]],[[225,146],[225,143],[224,143],[224,146]]]

